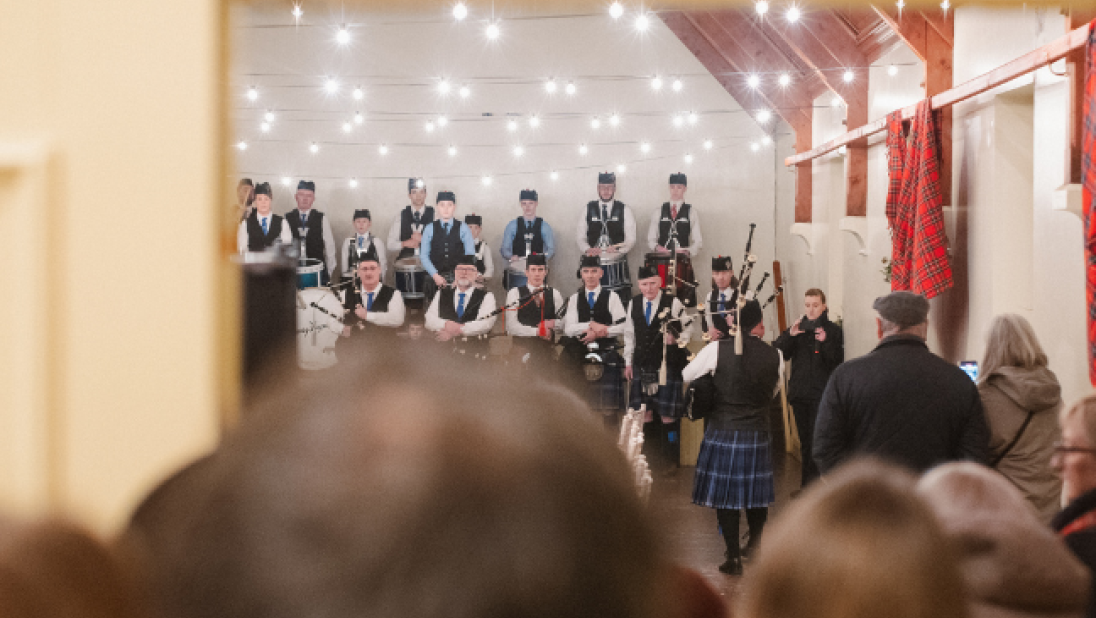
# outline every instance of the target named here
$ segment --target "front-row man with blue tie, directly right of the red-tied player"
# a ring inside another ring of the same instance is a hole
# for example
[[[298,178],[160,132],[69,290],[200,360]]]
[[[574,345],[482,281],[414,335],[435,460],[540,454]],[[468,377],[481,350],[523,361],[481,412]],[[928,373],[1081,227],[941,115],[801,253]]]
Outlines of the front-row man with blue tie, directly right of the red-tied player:
[[[569,339],[564,350],[571,360],[584,370],[583,364],[589,344],[597,344],[593,351],[601,358],[604,374],[601,379],[589,384],[586,399],[590,407],[605,415],[606,422],[615,422],[617,412],[624,410],[623,359],[617,352],[617,336],[624,334],[627,314],[620,302],[620,295],[602,287],[602,265],[596,255],[583,255],[579,268],[582,287],[567,302],[563,317],[563,334]],[[585,381],[585,378],[580,378]]]

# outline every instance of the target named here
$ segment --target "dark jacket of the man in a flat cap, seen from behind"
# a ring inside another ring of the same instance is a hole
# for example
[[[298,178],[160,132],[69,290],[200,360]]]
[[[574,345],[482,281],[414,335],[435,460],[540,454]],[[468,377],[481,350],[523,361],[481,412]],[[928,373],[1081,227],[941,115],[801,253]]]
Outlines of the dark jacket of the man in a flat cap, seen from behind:
[[[974,382],[916,336],[894,335],[837,367],[822,394],[814,461],[825,473],[858,454],[924,471],[985,464],[990,431]]]

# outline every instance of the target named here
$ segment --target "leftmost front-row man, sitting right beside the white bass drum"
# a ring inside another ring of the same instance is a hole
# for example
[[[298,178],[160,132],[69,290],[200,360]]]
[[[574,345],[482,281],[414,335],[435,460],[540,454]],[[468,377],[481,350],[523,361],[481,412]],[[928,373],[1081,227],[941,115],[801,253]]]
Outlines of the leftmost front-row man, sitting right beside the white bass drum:
[[[357,263],[357,282],[346,290],[343,308],[343,336],[370,345],[396,341],[396,329],[403,325],[407,309],[403,296],[380,283],[380,256],[366,253]]]

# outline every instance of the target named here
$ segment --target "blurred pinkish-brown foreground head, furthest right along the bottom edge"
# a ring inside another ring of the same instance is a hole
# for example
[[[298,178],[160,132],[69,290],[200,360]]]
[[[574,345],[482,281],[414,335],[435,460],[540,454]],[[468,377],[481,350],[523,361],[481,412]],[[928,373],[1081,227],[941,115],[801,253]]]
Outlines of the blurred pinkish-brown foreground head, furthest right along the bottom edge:
[[[917,492],[959,558],[981,616],[1081,616],[1088,574],[1000,472],[972,462],[927,472]]]

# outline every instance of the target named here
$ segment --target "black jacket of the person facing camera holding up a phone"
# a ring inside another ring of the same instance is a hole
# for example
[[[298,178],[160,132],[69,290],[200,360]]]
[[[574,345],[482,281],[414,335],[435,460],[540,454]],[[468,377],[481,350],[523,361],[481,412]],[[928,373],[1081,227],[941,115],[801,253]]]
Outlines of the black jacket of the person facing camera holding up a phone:
[[[830,321],[823,311],[819,325],[825,330],[825,341],[817,341],[814,331],[791,335],[791,329],[780,333],[773,346],[791,362],[788,380],[788,399],[791,401],[819,401],[830,381],[830,374],[845,360],[845,335],[841,327]]]

